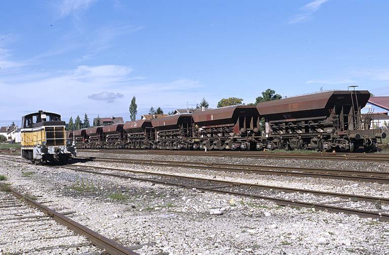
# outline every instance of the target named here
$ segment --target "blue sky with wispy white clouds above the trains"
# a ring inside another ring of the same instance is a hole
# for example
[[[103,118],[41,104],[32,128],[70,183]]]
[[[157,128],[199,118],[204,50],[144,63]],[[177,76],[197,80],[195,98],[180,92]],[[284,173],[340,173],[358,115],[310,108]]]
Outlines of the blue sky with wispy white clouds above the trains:
[[[359,85],[389,95],[387,1],[1,1],[0,125]]]

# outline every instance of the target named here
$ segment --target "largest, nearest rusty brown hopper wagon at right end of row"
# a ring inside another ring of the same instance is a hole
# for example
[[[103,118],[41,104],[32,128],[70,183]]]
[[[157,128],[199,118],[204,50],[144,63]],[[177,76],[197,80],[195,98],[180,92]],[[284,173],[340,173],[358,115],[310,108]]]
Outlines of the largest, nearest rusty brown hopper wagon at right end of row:
[[[257,110],[273,147],[372,150],[380,131],[361,115],[369,97],[367,90],[328,91],[259,103]]]

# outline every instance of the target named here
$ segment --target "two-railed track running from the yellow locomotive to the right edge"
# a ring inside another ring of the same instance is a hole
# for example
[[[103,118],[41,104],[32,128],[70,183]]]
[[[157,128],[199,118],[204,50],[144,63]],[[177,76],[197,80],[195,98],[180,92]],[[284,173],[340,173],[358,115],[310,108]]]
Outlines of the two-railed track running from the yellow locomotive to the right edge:
[[[12,159],[9,159],[12,160]],[[345,193],[333,193],[326,191],[316,191],[316,190],[304,190],[304,189],[295,189],[287,187],[278,187],[278,186],[265,186],[252,183],[242,183],[234,181],[225,181],[225,180],[215,180],[207,178],[198,178],[198,177],[189,177],[173,174],[164,174],[164,173],[154,173],[147,171],[137,171],[137,170],[127,170],[127,169],[117,169],[117,168],[108,168],[108,167],[96,167],[96,166],[80,166],[80,165],[66,165],[66,166],[54,166],[57,168],[73,170],[77,172],[97,174],[103,176],[117,177],[132,179],[137,181],[153,182],[163,185],[178,186],[184,188],[195,188],[203,191],[224,193],[224,194],[233,194],[244,197],[251,197],[256,199],[264,199],[273,201],[281,206],[291,206],[291,207],[304,207],[304,208],[314,208],[317,210],[322,210],[326,212],[333,213],[345,213],[345,214],[355,214],[360,217],[374,218],[382,221],[389,221],[389,214],[385,213],[389,211],[389,207],[384,210],[359,210],[350,207],[336,207],[333,206],[334,203],[340,205],[345,203],[354,203],[354,202],[364,202],[369,203],[369,207],[375,208],[376,205],[384,204],[386,205],[389,202],[389,198],[385,197],[373,197],[373,196],[361,196],[355,194],[345,194]],[[86,169],[94,169],[86,170]],[[104,172],[109,171],[109,172]],[[125,172],[126,174],[118,174],[117,172]],[[263,195],[261,192],[268,191],[273,195]],[[288,193],[297,193],[297,194],[312,194],[319,197],[337,197],[343,200],[329,200],[324,199],[321,202],[311,202],[311,201],[299,201],[295,198],[285,199],[278,197],[279,193],[275,194],[274,190],[285,191]],[[258,194],[259,193],[259,194]]]

